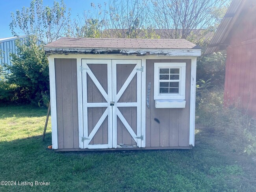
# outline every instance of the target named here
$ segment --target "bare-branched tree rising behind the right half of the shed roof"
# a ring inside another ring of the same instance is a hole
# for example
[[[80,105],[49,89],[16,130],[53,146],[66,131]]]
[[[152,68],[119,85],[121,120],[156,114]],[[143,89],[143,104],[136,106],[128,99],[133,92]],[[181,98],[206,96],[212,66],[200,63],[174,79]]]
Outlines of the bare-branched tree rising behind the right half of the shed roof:
[[[230,0],[151,0],[148,6],[150,22],[161,29],[162,36],[186,39],[213,26],[219,17],[216,10],[226,7]]]

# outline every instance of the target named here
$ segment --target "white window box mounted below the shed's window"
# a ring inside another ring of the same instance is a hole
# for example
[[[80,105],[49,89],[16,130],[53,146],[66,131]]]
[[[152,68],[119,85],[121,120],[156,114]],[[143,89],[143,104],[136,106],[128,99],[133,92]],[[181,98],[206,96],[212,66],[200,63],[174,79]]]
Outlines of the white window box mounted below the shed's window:
[[[156,108],[185,108],[185,100],[155,100]]]

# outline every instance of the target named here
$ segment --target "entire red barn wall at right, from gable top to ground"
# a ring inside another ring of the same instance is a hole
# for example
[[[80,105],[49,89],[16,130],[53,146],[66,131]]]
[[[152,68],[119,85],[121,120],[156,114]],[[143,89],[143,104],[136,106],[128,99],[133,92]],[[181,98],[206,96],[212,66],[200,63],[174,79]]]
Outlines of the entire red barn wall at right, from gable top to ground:
[[[256,117],[256,6],[252,2],[237,19],[227,48],[224,104]]]

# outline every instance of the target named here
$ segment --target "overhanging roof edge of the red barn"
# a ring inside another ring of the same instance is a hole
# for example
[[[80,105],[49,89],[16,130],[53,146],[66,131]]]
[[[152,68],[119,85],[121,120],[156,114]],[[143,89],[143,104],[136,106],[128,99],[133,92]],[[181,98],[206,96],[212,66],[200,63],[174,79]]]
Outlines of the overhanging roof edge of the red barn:
[[[236,23],[237,18],[239,17],[243,7],[245,6],[245,2],[249,2],[250,0],[233,0],[228,8],[228,11],[224,15],[219,28],[217,29],[215,35],[211,39],[211,42],[206,49],[205,54],[210,54],[212,52],[216,52],[222,47],[226,45],[226,39],[230,30]]]

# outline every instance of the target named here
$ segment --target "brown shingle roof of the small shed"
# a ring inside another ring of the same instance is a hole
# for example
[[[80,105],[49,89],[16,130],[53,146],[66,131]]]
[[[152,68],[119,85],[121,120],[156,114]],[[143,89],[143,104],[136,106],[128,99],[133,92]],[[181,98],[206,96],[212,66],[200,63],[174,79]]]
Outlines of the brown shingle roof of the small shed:
[[[186,39],[109,39],[61,37],[45,48],[68,49],[201,49]]]

